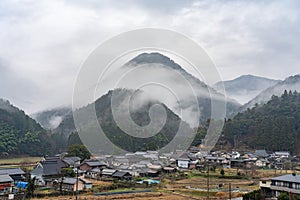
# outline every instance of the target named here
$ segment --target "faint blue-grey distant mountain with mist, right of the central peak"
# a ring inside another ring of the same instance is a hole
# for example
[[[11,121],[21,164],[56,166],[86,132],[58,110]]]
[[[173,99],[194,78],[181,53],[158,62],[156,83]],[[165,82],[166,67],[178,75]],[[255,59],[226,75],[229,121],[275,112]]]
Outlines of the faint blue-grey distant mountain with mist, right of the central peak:
[[[256,97],[260,92],[278,82],[280,82],[280,80],[243,75],[230,81],[217,82],[213,85],[213,88],[221,92],[224,84],[224,89],[228,97],[237,100],[241,104],[245,104]]]

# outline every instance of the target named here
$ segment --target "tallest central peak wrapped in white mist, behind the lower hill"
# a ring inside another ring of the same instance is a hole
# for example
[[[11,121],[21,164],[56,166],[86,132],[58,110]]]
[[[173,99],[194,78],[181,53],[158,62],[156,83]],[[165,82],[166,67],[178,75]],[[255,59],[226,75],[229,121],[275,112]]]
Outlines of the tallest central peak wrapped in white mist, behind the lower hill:
[[[121,80],[120,86],[134,89],[148,82],[154,83],[143,86],[142,90],[163,102],[192,127],[198,126],[193,123],[195,116],[199,116],[200,123],[212,117],[212,103],[215,110],[220,111],[216,114],[220,118],[231,115],[240,106],[235,100],[228,98],[227,109],[222,114],[222,109],[225,108],[222,94],[160,53],[142,53],[127,62],[121,71],[126,74],[126,80]]]

